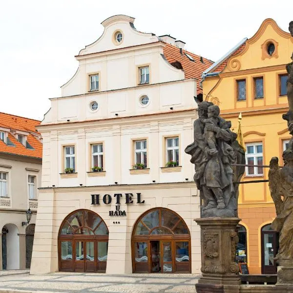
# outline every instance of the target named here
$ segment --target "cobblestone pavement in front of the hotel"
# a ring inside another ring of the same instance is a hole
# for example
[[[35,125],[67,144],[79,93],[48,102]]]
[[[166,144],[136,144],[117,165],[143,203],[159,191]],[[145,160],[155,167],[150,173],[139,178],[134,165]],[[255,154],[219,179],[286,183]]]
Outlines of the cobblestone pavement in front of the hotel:
[[[0,275],[0,293],[195,293],[199,275],[56,272]]]

